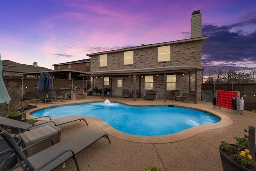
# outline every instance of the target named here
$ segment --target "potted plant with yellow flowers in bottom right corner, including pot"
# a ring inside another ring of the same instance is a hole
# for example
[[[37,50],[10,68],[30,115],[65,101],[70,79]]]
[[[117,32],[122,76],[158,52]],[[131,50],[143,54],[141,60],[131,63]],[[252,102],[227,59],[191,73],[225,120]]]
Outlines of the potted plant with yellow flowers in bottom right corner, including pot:
[[[248,148],[251,149],[251,147],[249,147],[248,138],[248,135],[245,135],[245,137],[242,138],[235,137],[234,139],[236,139],[236,144],[230,144],[226,141],[221,141],[219,151],[224,171],[256,171],[255,158],[250,155],[255,153],[255,145],[254,151],[252,150],[250,153]],[[255,137],[251,138],[255,139]]]

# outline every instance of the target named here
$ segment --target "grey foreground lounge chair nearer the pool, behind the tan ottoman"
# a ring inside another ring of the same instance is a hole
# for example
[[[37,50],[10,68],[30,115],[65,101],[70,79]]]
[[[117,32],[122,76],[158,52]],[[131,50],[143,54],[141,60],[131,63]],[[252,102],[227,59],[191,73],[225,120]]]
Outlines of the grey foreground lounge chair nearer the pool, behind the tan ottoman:
[[[42,117],[49,117],[49,116],[42,116]],[[34,119],[38,119],[38,118],[41,118],[41,117],[37,117]],[[6,127],[17,128],[17,129],[19,129],[19,131],[17,133],[19,133],[21,131],[31,130],[36,127],[42,127],[42,126],[49,125],[49,124],[58,126],[58,125],[62,125],[62,124],[77,121],[77,120],[80,120],[80,121],[83,120],[86,123],[86,125],[88,125],[86,120],[78,115],[71,115],[71,116],[61,117],[59,119],[53,119],[53,120],[50,118],[50,120],[47,120],[47,121],[44,121],[44,122],[41,122],[38,124],[30,124],[30,123],[10,119],[8,117],[0,116],[0,125],[6,126]]]

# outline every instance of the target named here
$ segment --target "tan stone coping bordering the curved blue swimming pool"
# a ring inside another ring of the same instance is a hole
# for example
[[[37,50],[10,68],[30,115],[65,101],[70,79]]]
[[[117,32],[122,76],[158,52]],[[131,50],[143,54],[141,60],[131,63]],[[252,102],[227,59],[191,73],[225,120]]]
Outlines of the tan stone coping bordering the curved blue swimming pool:
[[[84,102],[84,103],[92,103],[92,102],[98,102],[98,101],[90,101],[90,102]],[[120,101],[112,101],[112,102],[130,105],[128,103],[120,102]],[[81,104],[81,103],[73,103],[71,105],[75,105],[75,104]],[[63,104],[63,105],[69,105],[69,104]],[[55,106],[61,106],[61,105],[51,105],[50,107],[55,107]],[[143,106],[143,105],[131,105],[131,106]],[[152,104],[152,105],[144,105],[144,106],[161,106],[161,105]],[[190,137],[193,137],[194,135],[197,135],[197,134],[207,131],[209,129],[227,127],[234,123],[234,121],[230,117],[228,117],[218,111],[212,112],[212,111],[208,111],[206,109],[204,109],[204,110],[198,109],[197,107],[186,107],[186,106],[180,106],[180,105],[165,105],[165,104],[163,104],[162,106],[183,107],[183,108],[188,108],[188,109],[196,109],[198,111],[205,111],[208,114],[212,113],[216,117],[219,117],[221,120],[217,123],[212,123],[212,124],[208,124],[208,125],[199,125],[199,126],[195,126],[195,127],[185,129],[185,130],[179,131],[177,133],[168,134],[168,135],[141,136],[141,135],[132,135],[132,134],[123,133],[121,131],[118,131],[117,129],[114,129],[113,127],[108,125],[108,123],[106,123],[105,121],[102,121],[101,119],[98,119],[96,117],[89,117],[89,116],[85,116],[85,117],[89,118],[91,121],[96,123],[96,125],[98,125],[108,135],[111,135],[113,137],[116,137],[116,138],[119,138],[122,140],[136,142],[136,143],[172,143],[172,142],[188,139]],[[32,111],[30,110],[29,115],[31,113],[34,113],[35,111],[38,111],[41,109],[46,109],[46,108],[49,108],[49,107],[45,106],[42,108],[40,107],[39,109],[34,108],[34,110],[32,110]]]

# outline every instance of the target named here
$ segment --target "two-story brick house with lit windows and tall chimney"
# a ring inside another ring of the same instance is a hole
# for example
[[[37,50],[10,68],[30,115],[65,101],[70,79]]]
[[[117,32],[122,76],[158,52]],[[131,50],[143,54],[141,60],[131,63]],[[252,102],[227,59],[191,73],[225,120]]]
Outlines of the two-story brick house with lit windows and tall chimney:
[[[178,89],[195,91],[195,99],[201,99],[201,51],[208,38],[202,37],[202,14],[196,11],[190,39],[87,54],[91,73],[81,76],[90,76],[91,87],[108,87],[116,97],[122,89],[139,89],[141,97],[153,89],[165,100],[166,91]]]

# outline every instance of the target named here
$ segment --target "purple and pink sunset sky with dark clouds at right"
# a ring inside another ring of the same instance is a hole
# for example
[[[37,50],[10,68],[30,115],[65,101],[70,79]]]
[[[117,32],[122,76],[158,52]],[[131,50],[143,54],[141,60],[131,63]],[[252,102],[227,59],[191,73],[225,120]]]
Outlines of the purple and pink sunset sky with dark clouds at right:
[[[2,0],[1,60],[38,66],[190,38],[201,10],[202,67],[256,69],[255,0]]]

